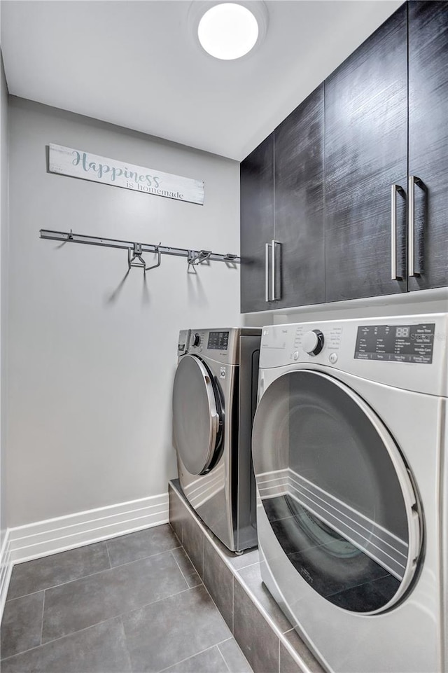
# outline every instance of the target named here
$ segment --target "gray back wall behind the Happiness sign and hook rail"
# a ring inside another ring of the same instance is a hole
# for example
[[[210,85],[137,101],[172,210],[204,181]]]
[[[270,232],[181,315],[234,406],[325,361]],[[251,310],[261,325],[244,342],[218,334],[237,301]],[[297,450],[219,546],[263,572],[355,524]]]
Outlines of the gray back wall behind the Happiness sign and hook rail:
[[[239,251],[239,164],[10,98],[8,525],[167,491],[180,328],[239,324],[239,270],[39,240],[48,228]],[[204,206],[50,174],[45,146],[205,181]],[[148,258],[148,262],[152,261]]]

